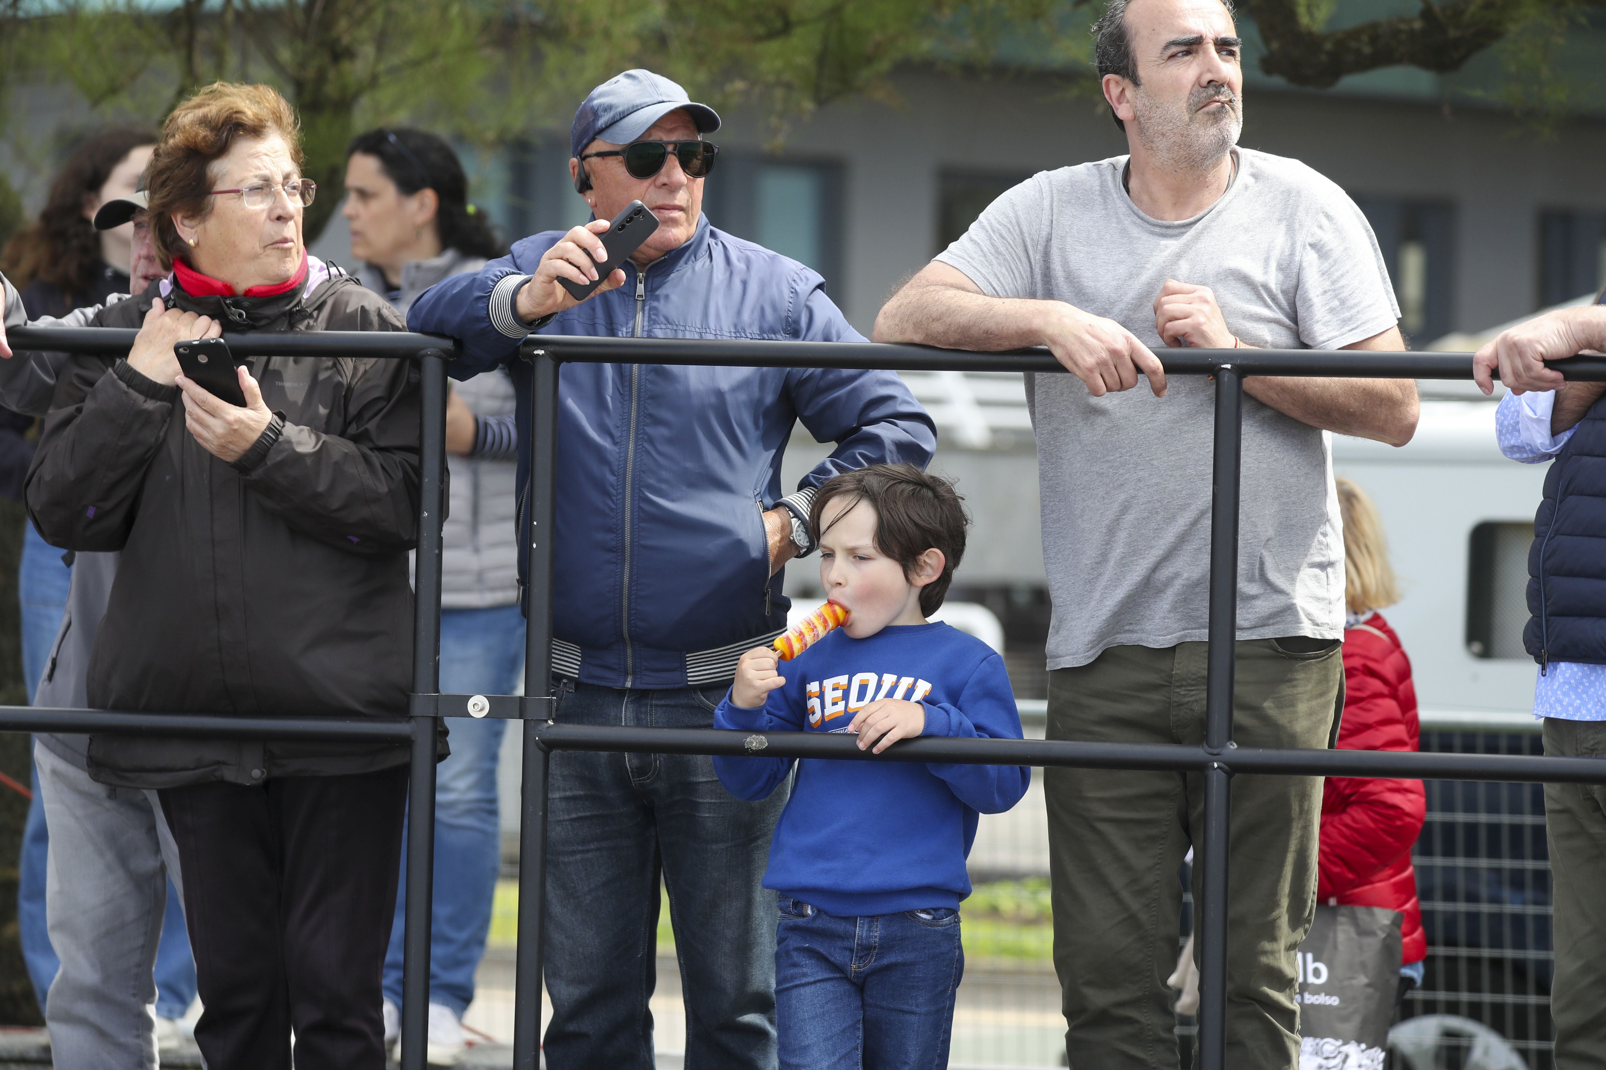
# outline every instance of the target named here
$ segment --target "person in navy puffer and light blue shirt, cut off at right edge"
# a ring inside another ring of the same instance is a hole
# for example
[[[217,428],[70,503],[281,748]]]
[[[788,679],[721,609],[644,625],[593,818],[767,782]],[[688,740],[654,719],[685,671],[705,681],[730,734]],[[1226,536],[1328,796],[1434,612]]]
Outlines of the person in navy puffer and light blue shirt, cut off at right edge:
[[[1495,412],[1500,452],[1550,462],[1534,515],[1522,646],[1539,664],[1534,717],[1545,754],[1606,757],[1606,382],[1566,380],[1547,361],[1606,351],[1606,292],[1518,324],[1473,358]],[[1555,911],[1550,1017],[1556,1070],[1606,1067],[1606,784],[1545,784],[1545,841]]]

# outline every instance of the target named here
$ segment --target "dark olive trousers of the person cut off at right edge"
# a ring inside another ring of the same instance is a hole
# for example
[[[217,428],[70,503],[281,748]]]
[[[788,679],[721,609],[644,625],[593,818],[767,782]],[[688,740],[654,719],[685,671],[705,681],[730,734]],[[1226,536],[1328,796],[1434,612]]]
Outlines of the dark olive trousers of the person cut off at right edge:
[[[1545,754],[1606,757],[1606,722],[1545,717]],[[1545,784],[1556,1070],[1606,1067],[1606,784]]]

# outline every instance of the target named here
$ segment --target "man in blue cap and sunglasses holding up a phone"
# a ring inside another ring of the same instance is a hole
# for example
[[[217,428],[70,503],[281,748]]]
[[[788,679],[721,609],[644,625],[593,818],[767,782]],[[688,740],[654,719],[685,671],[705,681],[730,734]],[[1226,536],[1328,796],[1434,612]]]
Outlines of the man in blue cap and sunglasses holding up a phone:
[[[532,332],[859,342],[813,270],[702,215],[711,107],[649,71],[604,82],[575,114],[575,189],[596,220],[514,244],[408,313],[463,342],[451,374],[507,364],[519,486],[530,460]],[[631,201],[658,229],[575,302]],[[593,260],[594,258],[594,260]],[[795,420],[829,459],[782,496]],[[557,446],[552,664],[557,720],[707,728],[744,651],[785,627],[782,565],[813,550],[814,489],[877,462],[925,467],[936,435],[891,372],[565,364]],[[760,887],[785,792],[724,792],[707,757],[557,752],[551,770],[546,987],[552,1070],[652,1065],[658,881],[668,889],[686,1065],[774,1067],[776,902]]]

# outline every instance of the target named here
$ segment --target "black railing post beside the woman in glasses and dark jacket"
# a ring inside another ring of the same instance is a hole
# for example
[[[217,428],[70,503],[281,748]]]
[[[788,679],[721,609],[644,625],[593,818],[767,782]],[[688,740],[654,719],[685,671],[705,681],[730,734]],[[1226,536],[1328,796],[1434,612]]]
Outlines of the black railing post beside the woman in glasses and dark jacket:
[[[446,356],[419,359],[422,435],[419,441],[418,565],[413,579],[413,693],[440,691],[440,525],[445,515]],[[416,701],[416,699],[414,699]],[[408,778],[406,916],[402,938],[402,1070],[424,1070],[429,1041],[429,929],[435,884],[435,730],[438,717],[411,715]]]

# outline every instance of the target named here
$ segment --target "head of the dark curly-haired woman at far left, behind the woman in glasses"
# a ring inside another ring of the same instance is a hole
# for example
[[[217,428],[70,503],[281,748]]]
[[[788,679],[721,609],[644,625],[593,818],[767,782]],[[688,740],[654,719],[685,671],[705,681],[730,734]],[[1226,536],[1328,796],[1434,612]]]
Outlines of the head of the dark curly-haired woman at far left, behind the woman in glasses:
[[[133,223],[96,231],[93,220],[103,204],[138,188],[154,144],[149,130],[104,130],[67,157],[39,221],[0,255],[6,278],[22,289],[29,319],[66,316],[128,292]]]

